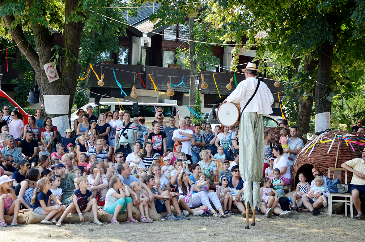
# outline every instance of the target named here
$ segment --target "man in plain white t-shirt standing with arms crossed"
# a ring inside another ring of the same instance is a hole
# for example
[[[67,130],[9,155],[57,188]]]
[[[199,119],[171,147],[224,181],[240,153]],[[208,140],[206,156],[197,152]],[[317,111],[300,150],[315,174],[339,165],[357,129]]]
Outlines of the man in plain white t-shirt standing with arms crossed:
[[[188,130],[186,128],[186,120],[180,119],[179,125],[180,129],[174,130],[174,134],[172,135],[172,139],[174,142],[180,141],[181,144],[183,144],[183,147],[181,148],[181,152],[184,152],[187,159],[191,160],[191,139],[194,138],[194,133],[192,130]]]

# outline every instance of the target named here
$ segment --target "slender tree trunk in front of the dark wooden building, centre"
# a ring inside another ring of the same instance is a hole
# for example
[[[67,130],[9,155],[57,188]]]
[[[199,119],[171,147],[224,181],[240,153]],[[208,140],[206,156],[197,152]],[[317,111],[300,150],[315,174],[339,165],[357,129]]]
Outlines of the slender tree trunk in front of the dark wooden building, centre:
[[[194,18],[189,17],[189,40],[194,40],[193,34]],[[189,42],[190,50],[190,95],[189,95],[189,106],[195,110],[195,95],[196,95],[196,76],[198,75],[198,62],[195,60],[195,44]],[[193,114],[192,114],[193,115]]]

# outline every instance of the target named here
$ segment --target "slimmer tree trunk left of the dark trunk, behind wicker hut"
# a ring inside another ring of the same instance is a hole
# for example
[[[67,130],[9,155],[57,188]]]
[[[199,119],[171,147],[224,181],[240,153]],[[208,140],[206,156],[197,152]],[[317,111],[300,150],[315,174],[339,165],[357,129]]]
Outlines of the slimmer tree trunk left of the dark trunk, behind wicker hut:
[[[309,71],[309,73],[312,75],[317,65],[317,61],[310,61],[308,56],[304,57],[304,72]],[[298,108],[298,117],[295,123],[300,135],[307,134],[309,132],[308,127],[311,120],[312,107],[313,96],[308,96],[307,99],[303,99],[303,95],[301,95]]]

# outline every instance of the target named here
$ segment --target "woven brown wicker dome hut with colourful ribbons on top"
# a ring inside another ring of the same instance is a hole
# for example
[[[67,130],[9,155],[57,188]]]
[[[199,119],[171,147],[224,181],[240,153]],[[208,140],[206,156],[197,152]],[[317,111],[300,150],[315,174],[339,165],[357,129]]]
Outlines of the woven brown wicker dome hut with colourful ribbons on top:
[[[334,134],[337,135],[359,135],[356,136],[356,138],[365,138],[364,133],[361,132],[347,132],[347,131],[341,131],[341,130],[331,130],[326,135],[324,135],[324,138],[322,138],[322,141],[326,140],[332,140],[334,138]],[[308,142],[309,144],[310,142]],[[354,158],[361,158],[361,151],[364,149],[364,146],[359,144],[352,143],[352,146],[355,151],[352,150],[350,144],[349,146],[346,145],[345,140],[338,139],[336,137],[332,147],[332,142],[326,142],[321,143],[318,142],[315,144],[314,149],[310,154],[312,148],[309,148],[311,145],[309,145],[306,148],[306,145],[304,145],[303,149],[300,151],[300,153],[297,155],[293,167],[292,167],[292,180],[294,183],[294,186],[299,182],[299,179],[297,179],[297,175],[299,175],[300,172],[305,172],[307,174],[307,182],[311,182],[314,177],[312,175],[312,168],[316,167],[320,172],[322,172],[325,176],[328,176],[328,168],[329,167],[341,167],[341,164],[346,162],[347,160],[351,160]],[[327,154],[328,149],[331,147],[330,152]],[[309,148],[309,149],[308,149]],[[306,150],[308,150],[306,152]],[[305,153],[306,152],[306,153]],[[337,165],[336,165],[336,158],[338,153],[338,159],[337,159]],[[342,179],[345,179],[344,172],[342,172]],[[347,182],[350,183],[352,178],[352,173],[347,173]]]

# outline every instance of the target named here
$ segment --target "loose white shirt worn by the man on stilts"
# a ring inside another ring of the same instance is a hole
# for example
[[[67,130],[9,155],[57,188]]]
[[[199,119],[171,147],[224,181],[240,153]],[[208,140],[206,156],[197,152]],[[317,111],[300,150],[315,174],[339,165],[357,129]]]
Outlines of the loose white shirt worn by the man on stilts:
[[[240,82],[237,88],[227,97],[227,101],[238,103],[241,106],[241,112],[248,100],[256,90],[258,80],[255,77],[249,77]],[[268,86],[261,82],[258,90],[247,105],[244,112],[257,112],[258,114],[271,114],[273,112],[271,105],[274,103],[274,97]]]

